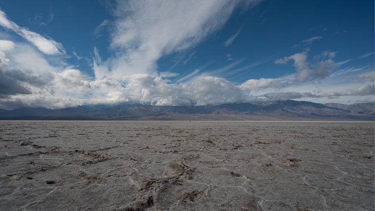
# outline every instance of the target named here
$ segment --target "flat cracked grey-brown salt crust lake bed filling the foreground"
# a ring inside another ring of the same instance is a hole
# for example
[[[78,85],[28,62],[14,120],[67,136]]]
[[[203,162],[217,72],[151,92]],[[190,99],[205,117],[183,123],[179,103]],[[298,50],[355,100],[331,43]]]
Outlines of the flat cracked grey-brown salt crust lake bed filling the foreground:
[[[374,210],[374,123],[0,121],[0,178],[0,210]]]

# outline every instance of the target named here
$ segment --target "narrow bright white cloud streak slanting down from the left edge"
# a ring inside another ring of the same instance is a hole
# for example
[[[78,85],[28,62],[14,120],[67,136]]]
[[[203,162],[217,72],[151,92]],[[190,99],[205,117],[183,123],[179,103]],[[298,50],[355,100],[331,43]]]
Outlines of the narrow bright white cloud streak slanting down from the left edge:
[[[39,49],[44,54],[65,54],[65,50],[63,49],[61,43],[58,43],[51,39],[47,39],[46,37],[38,33],[29,31],[26,28],[18,26],[16,23],[10,21],[7,18],[7,15],[2,10],[0,10],[0,25],[24,37],[24,39],[33,44],[37,49]]]

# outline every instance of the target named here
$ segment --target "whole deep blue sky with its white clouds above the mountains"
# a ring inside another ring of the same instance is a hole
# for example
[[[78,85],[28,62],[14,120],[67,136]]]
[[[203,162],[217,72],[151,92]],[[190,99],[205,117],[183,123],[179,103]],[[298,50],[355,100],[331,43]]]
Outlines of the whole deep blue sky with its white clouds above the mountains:
[[[374,102],[373,0],[0,0],[0,108]]]

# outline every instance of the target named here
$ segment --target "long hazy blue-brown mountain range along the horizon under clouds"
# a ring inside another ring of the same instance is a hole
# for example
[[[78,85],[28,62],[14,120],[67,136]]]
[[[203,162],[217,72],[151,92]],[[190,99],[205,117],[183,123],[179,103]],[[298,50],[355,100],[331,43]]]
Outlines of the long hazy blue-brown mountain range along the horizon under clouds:
[[[374,121],[374,103],[351,105],[306,101],[232,103],[205,106],[142,104],[77,106],[62,109],[0,109],[0,120],[331,120]]]

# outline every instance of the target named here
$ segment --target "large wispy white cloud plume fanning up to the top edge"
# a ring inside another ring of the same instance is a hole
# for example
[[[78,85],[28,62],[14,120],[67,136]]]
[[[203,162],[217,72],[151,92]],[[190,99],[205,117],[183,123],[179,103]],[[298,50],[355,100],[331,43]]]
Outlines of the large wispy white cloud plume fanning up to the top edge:
[[[101,65],[96,61],[97,78],[103,75],[122,78],[137,73],[157,75],[156,62],[161,56],[197,45],[220,29],[240,4],[241,1],[215,0],[118,1],[113,10],[115,21],[110,44],[116,55]]]

